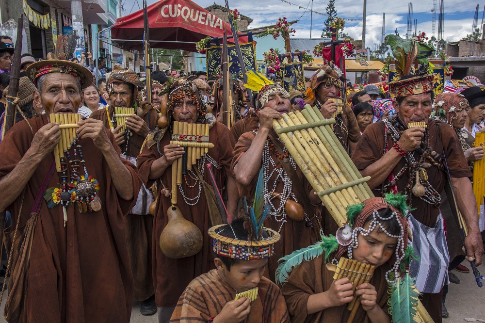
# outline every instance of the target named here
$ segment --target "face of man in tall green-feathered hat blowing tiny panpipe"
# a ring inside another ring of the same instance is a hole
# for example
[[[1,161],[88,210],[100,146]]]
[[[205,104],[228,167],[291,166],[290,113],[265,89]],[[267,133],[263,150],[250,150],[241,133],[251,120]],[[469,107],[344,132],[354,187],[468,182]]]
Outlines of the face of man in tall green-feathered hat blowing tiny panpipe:
[[[407,127],[409,122],[426,122],[431,114],[433,101],[431,93],[422,93],[414,96],[404,97],[403,102],[398,104],[392,102],[394,110],[399,114],[399,118]]]

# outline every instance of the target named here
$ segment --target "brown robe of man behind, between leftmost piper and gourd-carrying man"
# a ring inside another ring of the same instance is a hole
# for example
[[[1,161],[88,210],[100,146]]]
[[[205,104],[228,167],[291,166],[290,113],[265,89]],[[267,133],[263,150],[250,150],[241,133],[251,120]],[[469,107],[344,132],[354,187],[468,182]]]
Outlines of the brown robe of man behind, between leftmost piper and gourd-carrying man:
[[[110,106],[110,115],[113,113],[113,105]],[[100,109],[91,113],[91,119],[101,120],[104,126],[110,129],[108,121],[108,113],[106,109]],[[157,127],[158,113],[155,109],[149,110],[142,119],[150,130]],[[129,137],[129,146],[126,149],[126,143],[120,146],[121,151],[125,151],[129,157],[137,157],[140,153],[140,148],[145,141],[145,137],[139,135],[135,131]],[[144,301],[154,294],[153,279],[152,279],[152,227],[153,216],[151,214],[139,215],[128,214],[125,217],[126,225],[126,240],[128,243],[128,255],[133,272],[133,280],[135,283],[135,299]]]

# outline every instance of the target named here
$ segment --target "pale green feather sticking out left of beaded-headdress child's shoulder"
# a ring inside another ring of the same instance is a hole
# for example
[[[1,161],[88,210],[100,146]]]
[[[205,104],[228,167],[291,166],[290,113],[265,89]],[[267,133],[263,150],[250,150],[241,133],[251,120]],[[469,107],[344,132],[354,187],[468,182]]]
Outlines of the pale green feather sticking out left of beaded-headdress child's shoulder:
[[[280,264],[276,268],[275,280],[277,284],[282,284],[288,279],[293,268],[302,263],[303,260],[309,261],[313,258],[321,256],[323,253],[323,242],[317,242],[306,248],[293,251],[290,255],[287,255],[278,260]]]

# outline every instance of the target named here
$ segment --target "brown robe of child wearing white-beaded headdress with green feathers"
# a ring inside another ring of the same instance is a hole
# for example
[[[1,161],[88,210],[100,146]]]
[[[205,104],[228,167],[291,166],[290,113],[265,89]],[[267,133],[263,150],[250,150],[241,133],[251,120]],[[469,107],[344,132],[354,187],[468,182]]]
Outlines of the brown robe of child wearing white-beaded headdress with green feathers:
[[[375,269],[370,283],[377,291],[377,305],[388,313],[388,283],[385,275],[388,265],[384,264]],[[348,304],[338,307],[329,307],[323,311],[307,315],[307,303],[310,295],[327,291],[334,281],[334,273],[325,267],[324,255],[310,261],[303,261],[293,269],[281,291],[285,296],[291,323],[320,323],[320,322],[347,322],[350,311]],[[352,322],[370,323],[366,311],[359,306]]]

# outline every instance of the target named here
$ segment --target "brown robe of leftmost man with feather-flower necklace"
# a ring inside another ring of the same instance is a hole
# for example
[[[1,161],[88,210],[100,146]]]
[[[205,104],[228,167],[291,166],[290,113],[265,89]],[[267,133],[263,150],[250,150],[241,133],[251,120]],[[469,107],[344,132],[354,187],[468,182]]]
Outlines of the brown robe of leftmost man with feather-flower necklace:
[[[29,121],[34,133],[48,123],[46,115]],[[113,134],[106,132],[120,153]],[[32,139],[25,121],[7,132],[0,145],[0,179],[15,168]],[[80,213],[76,205],[69,204],[64,227],[62,206],[49,209],[42,199],[26,274],[22,322],[129,322],[133,279],[123,218],[135,199],[123,200],[117,195],[109,166],[93,141],[81,139],[80,144],[89,175],[99,181],[102,209]],[[53,159],[54,154],[50,153],[39,163],[24,188],[23,204],[18,197],[9,208],[13,210],[12,226],[6,229],[6,234],[13,234],[20,208],[19,227],[25,226]],[[133,180],[133,192],[138,192],[141,181],[135,167],[122,161]],[[57,173],[54,172],[47,187],[59,187]]]

